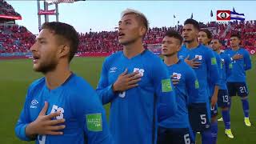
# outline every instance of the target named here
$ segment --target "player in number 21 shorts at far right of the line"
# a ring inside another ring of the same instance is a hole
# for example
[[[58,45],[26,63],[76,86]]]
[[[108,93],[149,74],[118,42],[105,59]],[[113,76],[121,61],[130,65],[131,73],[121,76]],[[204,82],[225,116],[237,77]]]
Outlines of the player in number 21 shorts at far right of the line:
[[[251,126],[248,102],[249,91],[246,85],[246,70],[251,69],[250,54],[247,50],[239,46],[240,42],[241,37],[239,34],[231,34],[231,49],[225,51],[232,60],[231,74],[227,78],[227,88],[230,97],[236,96],[237,94],[241,97],[242,109],[245,116],[244,122],[246,126]]]

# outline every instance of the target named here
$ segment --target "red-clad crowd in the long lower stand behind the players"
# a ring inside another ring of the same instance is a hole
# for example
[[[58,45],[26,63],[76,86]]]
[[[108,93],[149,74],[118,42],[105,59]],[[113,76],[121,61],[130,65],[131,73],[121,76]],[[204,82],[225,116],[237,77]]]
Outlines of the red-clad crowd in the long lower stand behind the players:
[[[242,46],[247,50],[256,50],[256,21],[207,24],[201,22],[200,26],[212,30],[214,37],[221,39],[224,49],[230,46],[230,34],[239,32],[242,36]],[[144,38],[144,46],[161,43],[166,30],[178,30],[182,33],[182,26],[150,28]],[[79,37],[78,53],[113,53],[122,50],[118,43],[117,31],[81,33]],[[34,39],[35,36],[24,26],[0,26],[0,53],[29,51]]]

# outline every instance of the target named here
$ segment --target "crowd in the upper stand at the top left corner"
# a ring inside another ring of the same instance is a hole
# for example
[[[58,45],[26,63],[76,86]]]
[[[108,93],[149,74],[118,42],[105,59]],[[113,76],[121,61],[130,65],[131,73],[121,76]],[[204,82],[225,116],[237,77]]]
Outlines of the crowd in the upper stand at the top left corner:
[[[15,12],[13,6],[8,4],[5,0],[0,0],[0,14],[7,16],[21,16]]]

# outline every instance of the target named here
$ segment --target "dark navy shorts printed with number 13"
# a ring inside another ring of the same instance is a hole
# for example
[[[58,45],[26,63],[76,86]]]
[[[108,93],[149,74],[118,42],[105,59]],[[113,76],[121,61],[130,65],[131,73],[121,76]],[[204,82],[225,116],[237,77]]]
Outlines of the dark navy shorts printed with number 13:
[[[227,90],[218,90],[218,107],[230,106],[230,96]]]

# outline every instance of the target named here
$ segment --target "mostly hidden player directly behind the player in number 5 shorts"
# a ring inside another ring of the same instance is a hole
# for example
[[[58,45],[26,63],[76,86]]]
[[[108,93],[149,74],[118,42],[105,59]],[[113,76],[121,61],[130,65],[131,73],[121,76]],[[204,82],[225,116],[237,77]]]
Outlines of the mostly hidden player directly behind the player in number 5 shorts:
[[[210,41],[212,39],[212,34],[210,33],[210,30],[207,29],[201,29],[198,33],[198,42],[204,46],[209,47]],[[211,48],[210,48],[211,49]],[[218,55],[217,52],[214,51],[214,56],[216,58],[217,64],[218,64],[218,73],[220,74],[221,71],[221,58]],[[219,83],[219,82],[218,82]],[[218,106],[216,105],[218,101],[218,83],[214,84],[212,82],[209,83],[210,88],[210,130],[211,130],[211,136],[212,136],[212,143],[217,142],[217,136],[218,136],[218,121],[217,121],[217,114],[218,114]],[[214,105],[215,104],[215,105]]]

